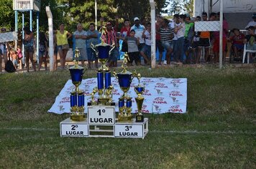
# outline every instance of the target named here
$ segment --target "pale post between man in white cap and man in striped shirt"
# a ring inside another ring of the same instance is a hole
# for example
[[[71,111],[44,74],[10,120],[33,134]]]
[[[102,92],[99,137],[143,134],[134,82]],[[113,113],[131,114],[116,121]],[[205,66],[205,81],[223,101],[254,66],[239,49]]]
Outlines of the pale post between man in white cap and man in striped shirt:
[[[151,8],[151,67],[155,68],[155,1],[150,0]]]

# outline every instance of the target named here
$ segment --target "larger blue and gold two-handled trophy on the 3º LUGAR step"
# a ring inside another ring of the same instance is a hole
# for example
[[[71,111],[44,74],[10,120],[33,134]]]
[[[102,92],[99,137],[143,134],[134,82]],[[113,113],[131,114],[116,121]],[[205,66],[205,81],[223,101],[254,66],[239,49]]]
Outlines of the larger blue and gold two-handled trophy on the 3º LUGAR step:
[[[118,79],[119,86],[124,92],[122,97],[119,98],[119,122],[132,122],[132,97],[127,95],[132,79],[137,77],[137,72],[127,71],[128,54],[124,54],[124,62],[122,64],[122,72],[113,72],[114,76]]]

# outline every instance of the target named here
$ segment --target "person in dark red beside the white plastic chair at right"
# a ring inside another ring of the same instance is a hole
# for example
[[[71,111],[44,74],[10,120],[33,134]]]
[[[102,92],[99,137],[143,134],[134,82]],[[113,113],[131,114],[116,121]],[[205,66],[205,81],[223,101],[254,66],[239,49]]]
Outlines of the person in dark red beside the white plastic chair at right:
[[[239,57],[237,51],[244,49],[244,34],[240,32],[239,29],[232,29],[234,35],[229,38],[229,41],[232,42],[232,49],[234,51],[234,57]]]

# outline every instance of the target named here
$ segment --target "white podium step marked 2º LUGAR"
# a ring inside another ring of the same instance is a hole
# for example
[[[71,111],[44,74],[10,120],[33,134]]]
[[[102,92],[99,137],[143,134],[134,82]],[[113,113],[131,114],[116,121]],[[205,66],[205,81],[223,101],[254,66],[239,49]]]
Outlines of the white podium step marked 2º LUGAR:
[[[73,122],[70,118],[60,122],[61,137],[88,137],[87,121]]]

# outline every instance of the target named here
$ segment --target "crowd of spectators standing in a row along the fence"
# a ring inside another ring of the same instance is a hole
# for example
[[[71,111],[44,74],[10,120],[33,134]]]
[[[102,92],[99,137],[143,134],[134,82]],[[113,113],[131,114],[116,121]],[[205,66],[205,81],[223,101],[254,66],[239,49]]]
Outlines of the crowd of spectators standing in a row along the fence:
[[[248,30],[247,35],[242,34],[239,29],[232,29],[229,31],[229,26],[226,19],[223,20],[223,39],[222,51],[225,62],[225,52],[227,52],[227,42],[232,44],[232,56],[230,58],[241,57],[239,52],[247,44],[247,48],[256,50],[256,14],[252,15],[253,21],[245,27]],[[65,30],[65,25],[60,24],[59,29],[54,31],[54,69],[57,69],[58,59],[60,56],[60,69],[65,69],[65,60],[70,45],[68,39],[75,39],[74,47],[79,50],[80,57],[76,58],[85,65],[88,61],[88,69],[98,67],[98,59],[96,54],[91,49],[91,44],[99,44],[99,37],[106,44],[113,45],[114,49],[109,56],[108,66],[116,67],[119,52],[127,52],[129,55],[128,66],[132,65],[148,65],[151,63],[151,24],[147,21],[141,21],[139,17],[134,17],[132,21],[124,19],[122,24],[119,23],[119,17],[115,17],[114,21],[106,21],[100,19],[101,26],[99,32],[96,30],[94,23],[89,24],[88,30],[83,29],[83,25],[78,23],[77,29],[73,34]],[[219,62],[219,32],[195,32],[195,21],[219,21],[219,13],[208,14],[203,12],[201,16],[191,18],[189,14],[175,14],[173,20],[163,18],[157,15],[155,21],[155,39],[156,48],[159,53],[158,64],[204,64]],[[131,22],[134,24],[132,25]],[[1,32],[6,32],[6,29],[1,29]],[[99,33],[102,33],[99,36]],[[231,36],[232,35],[232,36]],[[48,56],[48,38],[45,33],[40,32],[39,36],[39,52],[38,52],[38,70],[41,69],[44,63],[47,69]],[[121,43],[120,43],[121,42]],[[35,37],[33,32],[28,27],[24,27],[24,60],[29,72],[29,61],[32,64],[32,69],[36,71],[36,64],[33,58],[35,53]],[[122,47],[120,45],[122,44]],[[14,65],[22,69],[22,49],[18,45],[14,49],[12,44],[8,42],[0,44],[0,58],[3,57],[4,62],[12,59]],[[163,53],[165,52],[165,59],[163,60]],[[9,55],[9,58],[8,58]],[[143,63],[141,61],[144,61]],[[2,59],[0,59],[1,65]],[[232,62],[232,59],[230,59]],[[94,65],[93,65],[94,62]],[[0,67],[2,72],[2,67]]]

